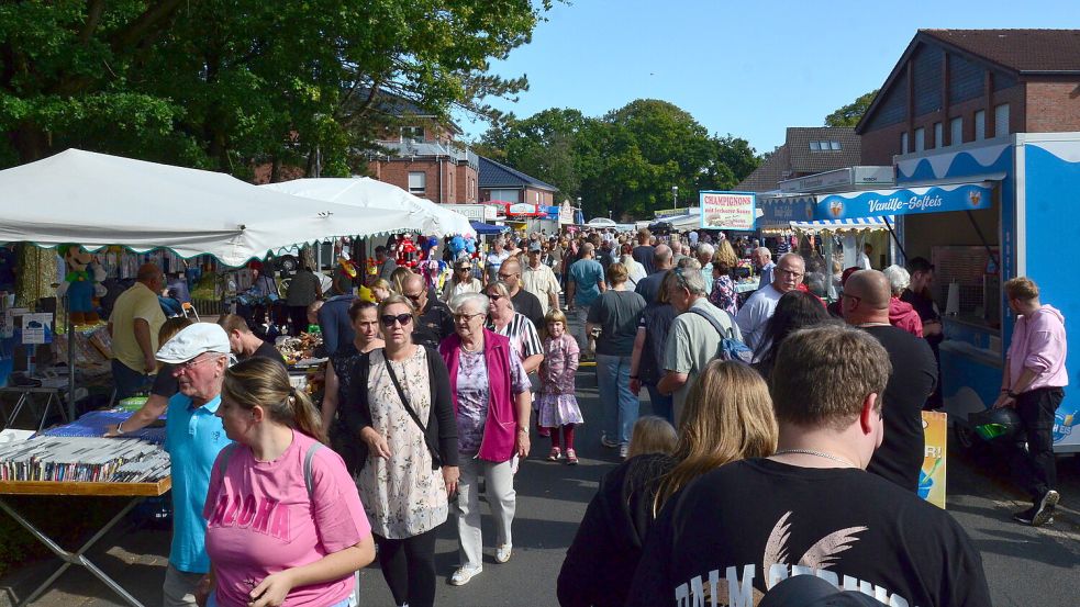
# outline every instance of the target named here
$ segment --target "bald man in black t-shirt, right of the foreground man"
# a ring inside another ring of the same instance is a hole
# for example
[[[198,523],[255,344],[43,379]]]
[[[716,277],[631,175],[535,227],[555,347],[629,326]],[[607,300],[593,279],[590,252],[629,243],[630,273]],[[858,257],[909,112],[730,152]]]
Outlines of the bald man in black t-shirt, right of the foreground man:
[[[914,492],[925,449],[923,405],[937,383],[937,363],[925,339],[889,324],[890,295],[883,273],[859,270],[844,285],[840,311],[847,324],[880,341],[892,362],[882,395],[886,438],[867,471]]]

